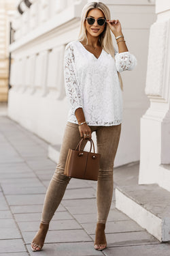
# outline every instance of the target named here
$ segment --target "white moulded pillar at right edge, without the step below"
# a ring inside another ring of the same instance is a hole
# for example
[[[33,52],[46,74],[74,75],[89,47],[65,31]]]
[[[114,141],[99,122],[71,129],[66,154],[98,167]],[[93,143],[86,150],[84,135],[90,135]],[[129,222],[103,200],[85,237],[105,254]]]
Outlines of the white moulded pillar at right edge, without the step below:
[[[170,191],[170,4],[156,0],[150,28],[146,94],[150,106],[141,117],[139,184],[157,183]]]

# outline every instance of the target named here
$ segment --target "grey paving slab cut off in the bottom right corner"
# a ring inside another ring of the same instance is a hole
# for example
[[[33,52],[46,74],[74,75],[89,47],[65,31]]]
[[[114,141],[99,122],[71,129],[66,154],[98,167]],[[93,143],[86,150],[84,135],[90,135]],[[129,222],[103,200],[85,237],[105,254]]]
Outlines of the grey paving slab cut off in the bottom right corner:
[[[169,256],[170,255],[170,244],[144,244],[138,246],[122,246],[106,248],[105,253],[107,256]]]

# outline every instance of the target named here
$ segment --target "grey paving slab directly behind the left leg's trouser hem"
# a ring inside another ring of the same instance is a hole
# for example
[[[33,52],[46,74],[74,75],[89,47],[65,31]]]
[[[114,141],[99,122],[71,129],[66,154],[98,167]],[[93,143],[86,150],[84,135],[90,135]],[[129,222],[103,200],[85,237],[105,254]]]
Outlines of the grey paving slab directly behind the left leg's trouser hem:
[[[41,212],[39,213],[25,213],[25,214],[14,214],[16,221],[23,222],[23,221],[40,221]],[[52,217],[53,220],[71,220],[73,217],[69,212],[55,212],[54,216]]]

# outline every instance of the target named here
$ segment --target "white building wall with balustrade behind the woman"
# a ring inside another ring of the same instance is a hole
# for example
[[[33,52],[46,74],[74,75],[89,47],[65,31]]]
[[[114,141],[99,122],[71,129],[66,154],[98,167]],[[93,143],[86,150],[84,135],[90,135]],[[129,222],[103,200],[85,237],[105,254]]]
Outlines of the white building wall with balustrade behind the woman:
[[[8,115],[52,144],[61,143],[67,122],[63,50],[67,42],[78,37],[86,2],[37,0],[24,16],[16,14],[14,18],[16,42],[10,45],[14,62]],[[129,51],[138,61],[135,70],[121,73],[124,113],[116,167],[139,160],[139,121],[149,106],[144,91],[149,29],[156,15],[153,1],[103,2],[108,5],[112,18],[120,20]],[[118,48],[114,35],[113,40]]]

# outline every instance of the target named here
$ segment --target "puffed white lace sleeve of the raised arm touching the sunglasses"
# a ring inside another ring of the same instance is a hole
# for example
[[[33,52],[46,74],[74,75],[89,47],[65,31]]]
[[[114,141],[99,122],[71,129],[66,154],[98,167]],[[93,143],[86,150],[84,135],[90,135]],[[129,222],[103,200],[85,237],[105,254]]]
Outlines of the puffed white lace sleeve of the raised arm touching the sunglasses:
[[[133,70],[137,66],[137,59],[135,55],[129,53],[129,51],[118,53],[115,51],[116,70],[122,72],[124,70]]]

